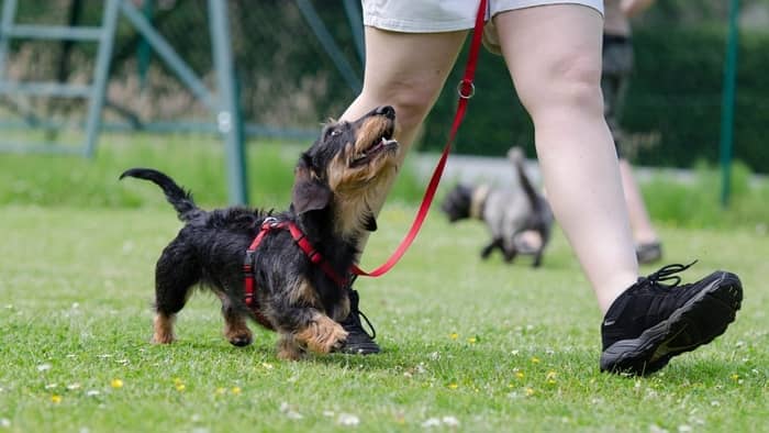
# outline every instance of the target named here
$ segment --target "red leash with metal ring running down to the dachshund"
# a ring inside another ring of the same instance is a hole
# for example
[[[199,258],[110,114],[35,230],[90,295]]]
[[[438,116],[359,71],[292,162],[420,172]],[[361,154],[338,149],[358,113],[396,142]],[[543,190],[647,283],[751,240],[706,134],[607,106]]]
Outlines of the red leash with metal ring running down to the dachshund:
[[[480,5],[478,7],[478,15],[476,16],[476,27],[472,31],[472,42],[470,45],[470,52],[467,57],[467,66],[465,66],[465,77],[461,79],[461,81],[459,81],[459,86],[457,86],[457,91],[459,92],[459,101],[457,104],[457,111],[454,114],[454,124],[452,125],[452,131],[448,134],[448,141],[444,146],[441,159],[438,160],[438,164],[435,167],[435,171],[433,171],[433,177],[430,179],[430,184],[427,184],[427,189],[424,193],[424,198],[422,199],[420,210],[419,212],[416,212],[416,216],[414,216],[414,222],[411,224],[409,233],[406,233],[406,235],[403,237],[401,244],[398,246],[395,252],[392,253],[390,258],[388,258],[388,260],[384,262],[383,265],[371,270],[370,273],[360,269],[356,265],[353,265],[353,273],[355,275],[363,275],[366,277],[379,277],[381,275],[384,275],[388,270],[395,266],[395,264],[398,263],[398,260],[401,259],[405,251],[409,249],[411,243],[414,242],[416,234],[422,227],[424,219],[427,216],[427,211],[430,211],[430,206],[433,203],[435,191],[438,188],[438,184],[441,182],[441,176],[443,176],[443,170],[446,166],[446,159],[448,158],[448,154],[452,152],[452,144],[454,143],[454,138],[457,135],[459,125],[465,119],[465,112],[467,111],[467,101],[470,98],[472,98],[472,96],[476,92],[476,87],[472,84],[472,80],[476,76],[478,53],[480,51],[481,36],[483,35],[483,22],[486,19],[486,1],[487,0],[480,0]]]

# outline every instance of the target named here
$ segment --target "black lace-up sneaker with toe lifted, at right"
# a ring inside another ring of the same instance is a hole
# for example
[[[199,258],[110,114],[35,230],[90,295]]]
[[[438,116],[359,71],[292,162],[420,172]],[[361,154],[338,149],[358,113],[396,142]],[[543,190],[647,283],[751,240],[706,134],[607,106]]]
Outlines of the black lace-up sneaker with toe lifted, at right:
[[[647,375],[726,331],[743,301],[739,278],[717,270],[679,286],[673,274],[693,264],[665,266],[620,295],[601,326],[601,371]]]

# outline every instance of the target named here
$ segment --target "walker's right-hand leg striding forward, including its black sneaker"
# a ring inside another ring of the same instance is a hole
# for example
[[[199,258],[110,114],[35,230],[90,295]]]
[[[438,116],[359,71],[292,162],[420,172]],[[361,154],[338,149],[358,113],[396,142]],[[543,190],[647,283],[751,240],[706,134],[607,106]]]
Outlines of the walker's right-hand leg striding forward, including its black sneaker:
[[[504,12],[495,24],[534,121],[548,199],[604,311],[601,370],[649,374],[724,333],[743,299],[736,275],[715,271],[679,286],[675,274],[691,265],[669,265],[636,280],[599,86],[601,16],[557,4]]]

